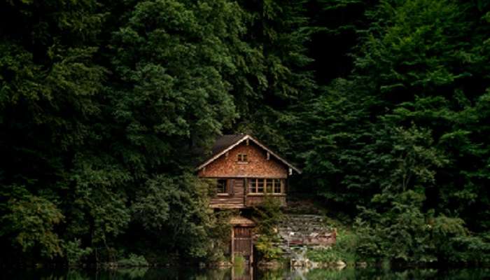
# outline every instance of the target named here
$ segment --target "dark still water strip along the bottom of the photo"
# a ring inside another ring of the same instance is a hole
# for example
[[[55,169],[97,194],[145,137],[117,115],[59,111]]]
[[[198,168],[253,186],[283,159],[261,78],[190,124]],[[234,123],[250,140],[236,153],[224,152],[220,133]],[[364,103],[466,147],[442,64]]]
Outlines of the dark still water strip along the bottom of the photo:
[[[3,271],[0,279],[44,279],[44,280],[153,280],[153,279],[192,279],[192,280],[319,280],[319,279],[449,279],[473,280],[490,279],[490,269],[410,269],[393,271],[387,269],[310,269],[310,270],[267,270],[255,269],[118,269],[113,271],[94,270],[49,270],[15,269]]]

